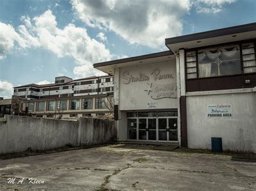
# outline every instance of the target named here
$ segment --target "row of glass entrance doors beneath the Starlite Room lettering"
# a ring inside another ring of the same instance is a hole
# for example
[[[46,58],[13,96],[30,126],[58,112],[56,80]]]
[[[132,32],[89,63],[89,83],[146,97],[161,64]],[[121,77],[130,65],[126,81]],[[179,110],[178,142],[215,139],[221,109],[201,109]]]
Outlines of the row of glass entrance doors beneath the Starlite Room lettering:
[[[178,141],[177,118],[127,119],[127,139],[148,141]]]

